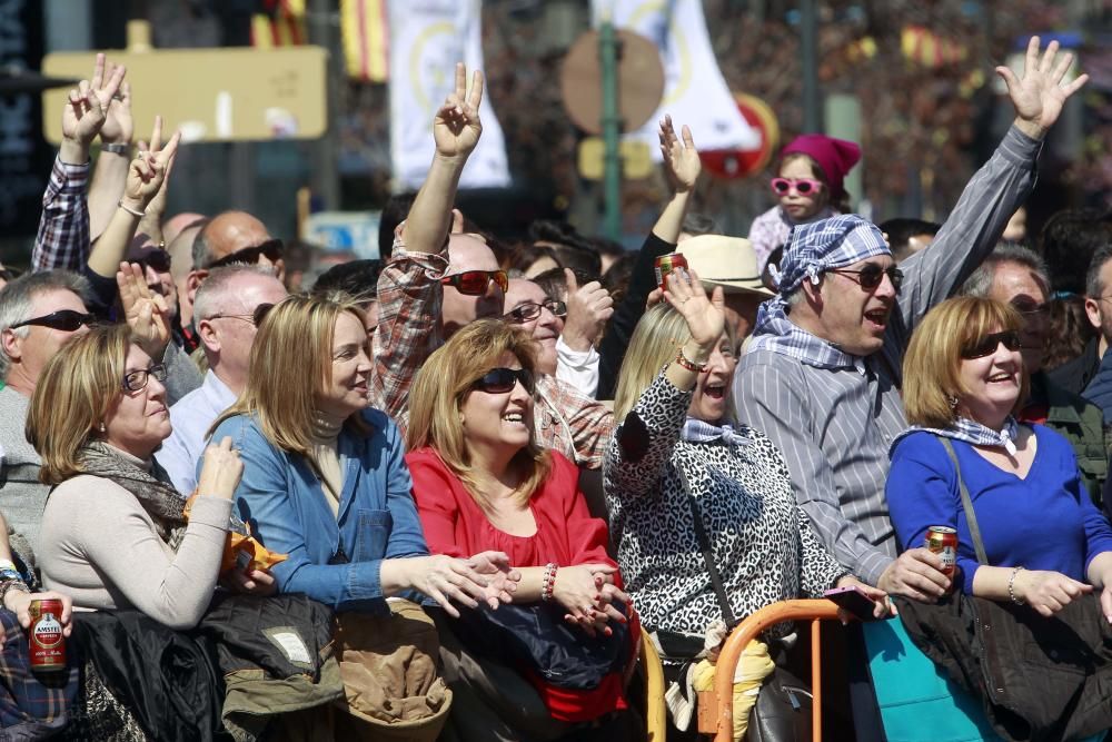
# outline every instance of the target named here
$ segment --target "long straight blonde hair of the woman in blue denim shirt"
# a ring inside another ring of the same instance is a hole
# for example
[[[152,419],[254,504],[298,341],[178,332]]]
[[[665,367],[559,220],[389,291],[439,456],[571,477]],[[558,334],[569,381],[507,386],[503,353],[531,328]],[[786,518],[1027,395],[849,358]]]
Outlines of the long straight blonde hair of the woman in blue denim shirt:
[[[332,338],[344,313],[355,315],[359,327],[366,326],[354,301],[290,296],[276,304],[259,323],[244,393],[212,423],[208,435],[229,417],[254,414],[270,443],[312,463],[312,421],[318,397],[331,382]],[[302,368],[307,384],[291,377]],[[359,413],[348,417],[345,427],[369,433]]]

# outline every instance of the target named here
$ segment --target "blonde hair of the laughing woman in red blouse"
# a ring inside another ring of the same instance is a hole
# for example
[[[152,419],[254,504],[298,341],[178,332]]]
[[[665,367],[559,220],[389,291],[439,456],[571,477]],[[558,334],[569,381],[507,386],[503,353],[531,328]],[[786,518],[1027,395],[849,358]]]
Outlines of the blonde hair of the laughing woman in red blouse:
[[[536,376],[535,345],[524,330],[512,328],[498,319],[479,319],[455,333],[421,367],[409,393],[409,451],[431,446],[444,463],[459,477],[480,507],[486,501],[476,486],[467,436],[460,424],[460,410],[471,386],[484,374],[499,365],[505,354],[512,354],[522,368]],[[552,458],[529,429],[529,443],[510,461],[522,476],[514,496],[527,503],[539,489],[552,469]]]

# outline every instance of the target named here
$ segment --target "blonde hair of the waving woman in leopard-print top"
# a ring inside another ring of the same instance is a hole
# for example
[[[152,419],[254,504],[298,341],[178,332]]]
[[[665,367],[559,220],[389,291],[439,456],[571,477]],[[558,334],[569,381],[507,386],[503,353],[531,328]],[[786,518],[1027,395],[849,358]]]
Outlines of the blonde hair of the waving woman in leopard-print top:
[[[737,340],[734,327],[728,321],[726,336],[736,353]],[[626,348],[622,370],[618,372],[614,390],[614,419],[625,419],[641,395],[661,375],[661,369],[675,360],[679,348],[689,339],[692,334],[687,329],[687,320],[671,305],[657,304],[645,313],[629,338],[629,347]],[[726,395],[726,418],[733,421],[733,384],[727,384]]]

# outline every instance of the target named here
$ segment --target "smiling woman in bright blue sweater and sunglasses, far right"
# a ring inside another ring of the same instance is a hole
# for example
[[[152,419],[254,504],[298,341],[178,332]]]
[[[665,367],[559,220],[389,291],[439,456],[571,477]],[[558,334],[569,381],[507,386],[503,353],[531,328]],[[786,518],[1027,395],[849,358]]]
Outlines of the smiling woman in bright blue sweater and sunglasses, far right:
[[[885,488],[892,523],[903,548],[921,546],[931,526],[956,528],[965,594],[1050,616],[1095,586],[1112,620],[1112,526],[1082,486],[1070,443],[1013,417],[1027,390],[1022,327],[1011,306],[963,297],[915,330],[903,387],[912,427],[892,445]],[[977,561],[955,462],[989,564]]]

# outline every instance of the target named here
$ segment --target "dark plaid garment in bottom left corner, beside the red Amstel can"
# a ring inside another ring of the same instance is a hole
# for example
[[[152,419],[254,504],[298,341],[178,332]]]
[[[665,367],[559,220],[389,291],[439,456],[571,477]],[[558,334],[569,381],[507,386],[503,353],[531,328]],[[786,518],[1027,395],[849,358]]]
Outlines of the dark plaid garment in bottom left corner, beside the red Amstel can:
[[[0,609],[0,740],[46,739],[66,725],[77,698],[77,663],[54,674],[44,685],[31,672],[27,634],[14,613]]]

